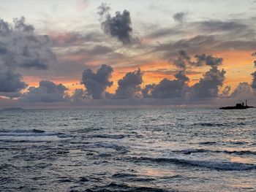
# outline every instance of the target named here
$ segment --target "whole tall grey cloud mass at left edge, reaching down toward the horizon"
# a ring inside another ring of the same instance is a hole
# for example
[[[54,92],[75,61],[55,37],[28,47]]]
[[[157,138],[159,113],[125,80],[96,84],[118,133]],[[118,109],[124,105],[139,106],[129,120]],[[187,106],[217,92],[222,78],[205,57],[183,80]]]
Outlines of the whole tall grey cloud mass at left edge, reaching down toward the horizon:
[[[18,96],[27,86],[22,74],[28,69],[48,69],[54,58],[50,38],[35,34],[24,17],[12,23],[0,19],[0,95]]]

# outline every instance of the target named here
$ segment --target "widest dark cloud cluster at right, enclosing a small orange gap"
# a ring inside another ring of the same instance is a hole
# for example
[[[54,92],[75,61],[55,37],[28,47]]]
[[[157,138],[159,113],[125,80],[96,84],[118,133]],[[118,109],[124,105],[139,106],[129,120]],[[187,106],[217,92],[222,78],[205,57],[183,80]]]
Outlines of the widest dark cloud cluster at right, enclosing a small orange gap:
[[[178,69],[182,69],[174,75],[176,80],[165,78],[159,84],[146,85],[142,90],[144,98],[212,98],[219,96],[219,88],[225,80],[225,71],[217,69],[217,66],[222,64],[222,58],[201,54],[195,55],[195,61],[192,61],[186,51],[179,50],[178,57],[171,61]],[[211,69],[203,74],[199,82],[189,87],[187,68],[200,66],[211,66]]]

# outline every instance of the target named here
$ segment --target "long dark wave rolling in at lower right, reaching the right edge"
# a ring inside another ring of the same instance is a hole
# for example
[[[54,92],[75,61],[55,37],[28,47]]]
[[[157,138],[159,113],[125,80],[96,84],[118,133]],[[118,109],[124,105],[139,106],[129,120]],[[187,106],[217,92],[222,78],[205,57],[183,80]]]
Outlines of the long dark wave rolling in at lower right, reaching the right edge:
[[[132,158],[134,161],[152,161],[152,162],[163,162],[171,164],[180,164],[184,166],[200,166],[208,169],[217,169],[223,171],[244,171],[256,169],[256,164],[242,164],[237,162],[230,161],[197,161],[197,160],[188,160],[181,158],[149,158],[149,157],[140,157]]]

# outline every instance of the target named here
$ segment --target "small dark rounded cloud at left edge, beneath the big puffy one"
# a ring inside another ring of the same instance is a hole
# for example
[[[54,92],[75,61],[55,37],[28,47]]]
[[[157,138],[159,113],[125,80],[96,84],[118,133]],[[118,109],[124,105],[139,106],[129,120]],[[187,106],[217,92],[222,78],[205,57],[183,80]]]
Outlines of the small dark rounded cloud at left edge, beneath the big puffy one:
[[[19,92],[26,88],[26,83],[21,81],[21,74],[7,67],[0,67],[0,95],[4,93]]]

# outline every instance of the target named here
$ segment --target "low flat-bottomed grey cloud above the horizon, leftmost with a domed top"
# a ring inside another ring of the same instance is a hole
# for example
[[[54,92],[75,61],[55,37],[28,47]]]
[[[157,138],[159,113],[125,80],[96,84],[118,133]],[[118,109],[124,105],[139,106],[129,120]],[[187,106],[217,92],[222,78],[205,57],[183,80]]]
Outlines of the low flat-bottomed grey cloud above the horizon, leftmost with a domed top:
[[[23,93],[21,101],[45,103],[67,101],[68,96],[65,91],[67,88],[62,84],[42,80],[39,82],[38,88],[30,87],[28,92]]]

